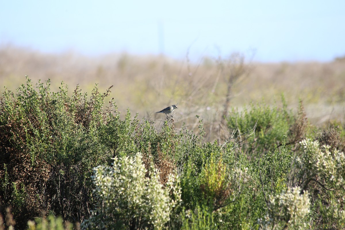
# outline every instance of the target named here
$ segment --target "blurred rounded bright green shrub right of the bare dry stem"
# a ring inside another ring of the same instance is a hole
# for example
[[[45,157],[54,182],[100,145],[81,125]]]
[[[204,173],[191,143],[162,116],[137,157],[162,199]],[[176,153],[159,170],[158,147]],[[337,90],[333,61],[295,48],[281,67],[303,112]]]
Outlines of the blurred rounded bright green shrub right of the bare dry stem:
[[[271,107],[264,102],[250,104],[241,113],[233,108],[227,121],[230,133],[233,133],[231,139],[237,141],[236,147],[244,146],[240,150],[248,157],[255,157],[257,153],[273,151],[275,144],[282,145],[284,137],[287,137],[286,146],[302,140],[307,126],[302,102],[296,115],[287,109],[284,97],[282,104],[282,108],[277,105]]]

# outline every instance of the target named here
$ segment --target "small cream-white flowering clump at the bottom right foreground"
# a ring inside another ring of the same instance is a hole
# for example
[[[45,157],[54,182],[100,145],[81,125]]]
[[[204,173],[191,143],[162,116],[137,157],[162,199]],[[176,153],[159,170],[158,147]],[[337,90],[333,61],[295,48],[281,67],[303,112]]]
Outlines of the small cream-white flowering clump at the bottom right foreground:
[[[300,194],[300,188],[288,188],[280,194],[270,196],[268,213],[258,223],[263,229],[306,229],[304,220],[309,213],[308,192]]]

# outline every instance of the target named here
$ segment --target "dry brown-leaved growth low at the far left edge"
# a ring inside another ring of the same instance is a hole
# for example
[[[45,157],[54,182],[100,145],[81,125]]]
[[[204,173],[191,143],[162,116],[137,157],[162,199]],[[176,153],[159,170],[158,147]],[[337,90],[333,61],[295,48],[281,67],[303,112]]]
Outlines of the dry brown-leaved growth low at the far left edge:
[[[1,137],[1,146],[3,156],[0,159],[2,165],[6,164],[6,170],[0,170],[0,177],[4,178],[5,174],[8,177],[8,181],[11,184],[7,184],[7,188],[2,191],[5,193],[0,194],[0,208],[4,210],[13,202],[11,194],[14,190],[19,192],[18,196],[25,196],[21,202],[24,205],[18,205],[13,207],[13,212],[16,214],[18,226],[26,226],[26,220],[31,216],[40,216],[41,210],[47,210],[47,197],[46,183],[50,178],[51,167],[44,161],[38,158],[32,158],[31,154],[24,151],[19,151],[16,148],[12,148],[11,144],[5,145],[4,140],[9,135],[10,127],[2,127],[3,136]],[[24,194],[22,194],[24,192]],[[22,207],[26,210],[21,210]]]

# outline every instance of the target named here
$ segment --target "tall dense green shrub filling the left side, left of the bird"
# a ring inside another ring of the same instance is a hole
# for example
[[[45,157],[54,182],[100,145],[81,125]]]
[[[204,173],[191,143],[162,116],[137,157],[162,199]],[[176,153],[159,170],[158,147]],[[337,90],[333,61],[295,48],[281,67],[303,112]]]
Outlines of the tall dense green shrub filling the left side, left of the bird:
[[[95,87],[88,98],[77,87],[70,97],[63,83],[56,93],[49,86],[34,87],[27,78],[17,93],[5,88],[1,98],[0,207],[12,206],[21,228],[41,210],[73,222],[89,216],[92,168],[112,157],[105,143],[110,134],[103,134],[119,127],[111,138],[120,146],[132,135],[130,118],[120,121],[112,103],[103,107],[109,90]]]

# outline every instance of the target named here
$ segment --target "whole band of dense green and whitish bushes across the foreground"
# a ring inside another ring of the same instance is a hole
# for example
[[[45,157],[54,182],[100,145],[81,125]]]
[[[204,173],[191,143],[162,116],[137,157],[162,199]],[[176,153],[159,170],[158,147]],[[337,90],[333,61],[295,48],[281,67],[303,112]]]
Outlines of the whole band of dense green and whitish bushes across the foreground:
[[[3,92],[0,211],[13,213],[8,226],[345,228],[342,127],[306,133],[302,102],[296,114],[284,100],[282,108],[233,110],[233,135],[218,143],[204,139],[199,116],[198,134],[170,119],[121,118],[112,100],[104,107],[109,90],[87,97],[77,87],[69,96],[63,84],[55,93],[49,81],[35,88],[27,79],[17,93]]]

